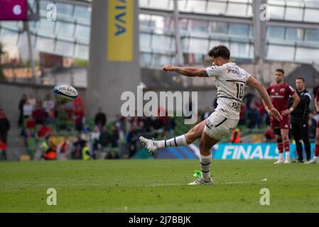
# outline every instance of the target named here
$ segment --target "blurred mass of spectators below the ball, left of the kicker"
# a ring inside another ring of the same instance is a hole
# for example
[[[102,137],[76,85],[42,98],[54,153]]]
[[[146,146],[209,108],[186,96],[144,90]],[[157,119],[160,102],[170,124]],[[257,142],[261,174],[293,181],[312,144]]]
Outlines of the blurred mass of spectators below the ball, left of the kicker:
[[[173,136],[175,128],[175,119],[169,118],[167,111],[155,118],[118,114],[115,121],[108,122],[99,108],[90,121],[80,97],[64,103],[50,94],[43,100],[23,94],[18,108],[21,136],[26,146],[33,148],[29,150],[36,160],[130,158],[139,148],[140,135]],[[163,109],[158,109],[158,114],[160,111]]]

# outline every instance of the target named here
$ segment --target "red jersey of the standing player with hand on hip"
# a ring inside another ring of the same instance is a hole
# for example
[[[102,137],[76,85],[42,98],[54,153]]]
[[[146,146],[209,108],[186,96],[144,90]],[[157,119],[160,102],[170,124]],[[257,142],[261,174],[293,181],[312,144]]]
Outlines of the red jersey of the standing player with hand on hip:
[[[281,85],[270,84],[267,88],[267,92],[270,96],[271,103],[279,112],[288,109],[289,96],[296,93],[293,87],[286,83]]]

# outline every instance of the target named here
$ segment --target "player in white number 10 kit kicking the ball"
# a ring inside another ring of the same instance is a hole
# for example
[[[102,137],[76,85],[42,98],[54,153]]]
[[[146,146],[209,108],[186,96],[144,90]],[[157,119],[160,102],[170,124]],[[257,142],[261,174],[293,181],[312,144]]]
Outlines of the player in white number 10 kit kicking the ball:
[[[184,135],[160,141],[148,140],[142,136],[139,138],[141,144],[148,148],[150,153],[156,152],[158,148],[188,145],[201,138],[200,168],[202,177],[190,183],[193,185],[213,183],[210,176],[210,164],[212,162],[210,149],[222,137],[228,135],[233,128],[236,128],[245,85],[257,89],[261,98],[269,106],[268,112],[270,116],[273,116],[278,121],[282,119],[279,111],[271,104],[264,86],[245,70],[230,62],[230,52],[225,45],[215,46],[208,52],[208,55],[212,58],[212,66],[210,67],[195,68],[166,65],[163,67],[163,71],[177,72],[187,77],[215,77],[218,104],[215,112]]]

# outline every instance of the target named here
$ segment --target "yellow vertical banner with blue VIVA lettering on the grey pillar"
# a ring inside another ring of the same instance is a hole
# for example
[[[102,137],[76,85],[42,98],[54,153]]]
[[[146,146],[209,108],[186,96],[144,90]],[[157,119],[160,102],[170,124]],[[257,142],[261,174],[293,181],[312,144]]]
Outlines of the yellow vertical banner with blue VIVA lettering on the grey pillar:
[[[134,51],[134,0],[108,0],[107,60],[131,62]]]

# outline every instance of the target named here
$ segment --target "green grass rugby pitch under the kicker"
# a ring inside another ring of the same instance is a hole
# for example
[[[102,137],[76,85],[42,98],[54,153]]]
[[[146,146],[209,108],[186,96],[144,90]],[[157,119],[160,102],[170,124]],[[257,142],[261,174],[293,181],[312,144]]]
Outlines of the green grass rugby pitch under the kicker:
[[[0,212],[318,212],[319,165],[273,163],[213,160],[215,184],[189,186],[198,160],[0,162]]]

